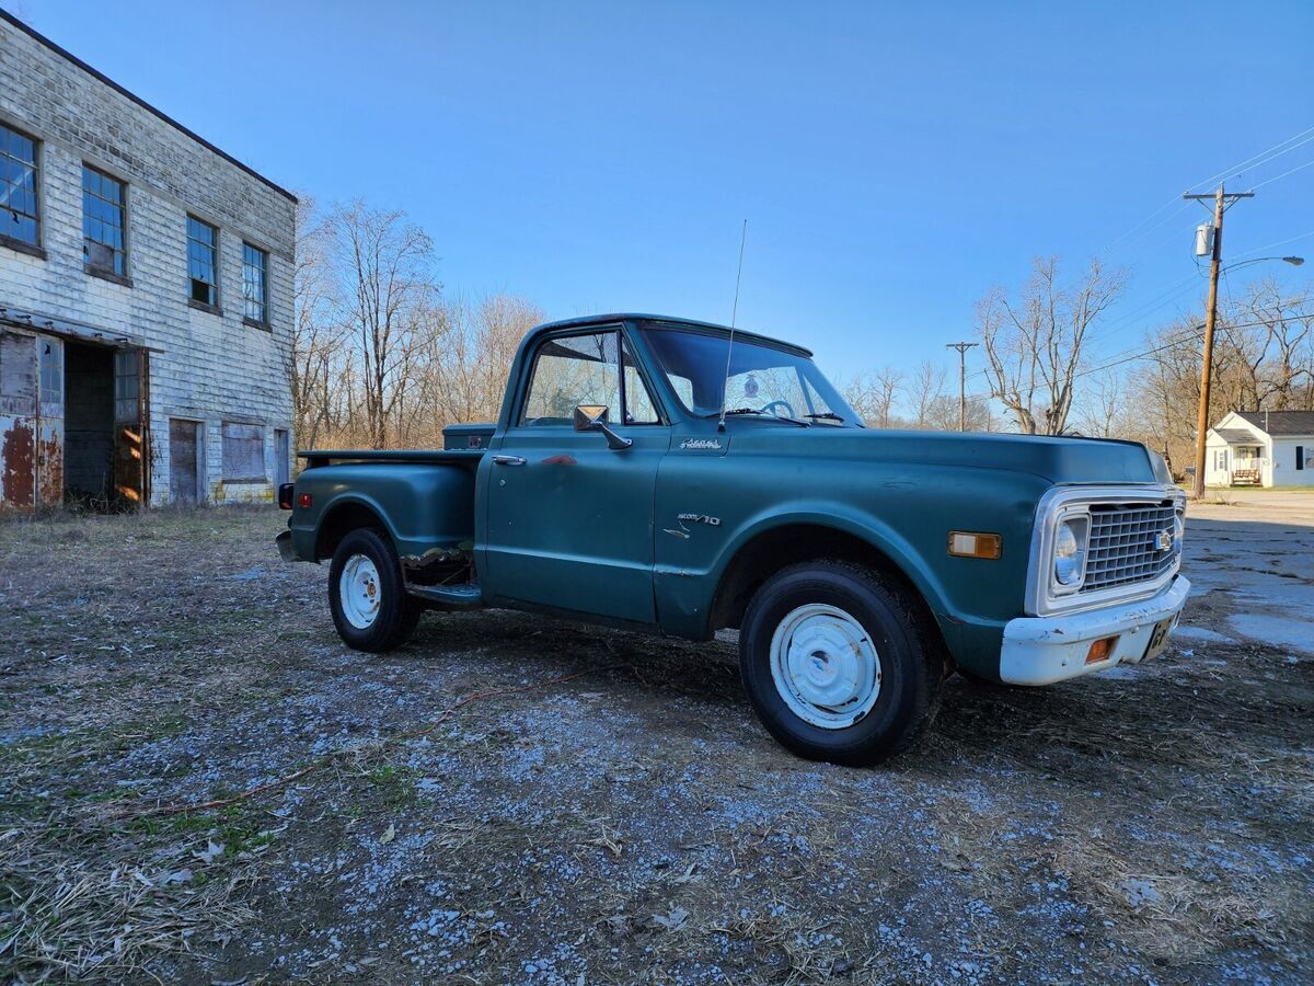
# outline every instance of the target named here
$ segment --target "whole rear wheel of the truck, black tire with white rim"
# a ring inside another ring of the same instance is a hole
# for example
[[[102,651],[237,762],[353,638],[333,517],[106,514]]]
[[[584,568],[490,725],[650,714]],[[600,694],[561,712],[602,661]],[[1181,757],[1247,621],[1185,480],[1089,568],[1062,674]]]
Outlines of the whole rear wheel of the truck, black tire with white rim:
[[[424,611],[406,594],[392,542],[368,527],[348,534],[334,551],[328,609],[348,647],[374,653],[406,643]]]

